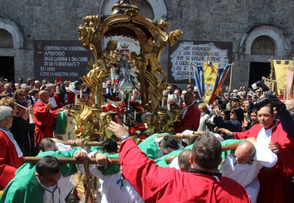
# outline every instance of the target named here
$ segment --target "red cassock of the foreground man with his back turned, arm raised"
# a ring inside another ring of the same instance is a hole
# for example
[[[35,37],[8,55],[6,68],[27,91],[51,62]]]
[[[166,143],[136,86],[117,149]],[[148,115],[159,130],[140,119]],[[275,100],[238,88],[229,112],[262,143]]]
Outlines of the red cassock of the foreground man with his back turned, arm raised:
[[[119,157],[124,177],[147,203],[250,203],[235,180],[159,167],[131,138]]]

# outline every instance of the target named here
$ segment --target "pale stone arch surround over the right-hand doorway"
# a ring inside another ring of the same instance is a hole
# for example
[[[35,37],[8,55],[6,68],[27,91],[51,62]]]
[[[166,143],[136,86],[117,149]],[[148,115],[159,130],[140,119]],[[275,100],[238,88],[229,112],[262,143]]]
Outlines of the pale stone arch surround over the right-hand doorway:
[[[251,54],[253,41],[260,36],[268,37],[273,42],[274,55],[285,56],[290,54],[290,41],[280,28],[273,25],[257,25],[250,28],[241,39],[239,53]]]

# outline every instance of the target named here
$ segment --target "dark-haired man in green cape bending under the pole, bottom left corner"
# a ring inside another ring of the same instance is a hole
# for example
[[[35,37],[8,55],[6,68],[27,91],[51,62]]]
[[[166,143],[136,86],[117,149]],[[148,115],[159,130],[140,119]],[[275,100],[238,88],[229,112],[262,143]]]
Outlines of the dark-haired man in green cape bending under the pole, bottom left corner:
[[[38,156],[47,157],[40,163],[42,170],[38,171],[36,164],[22,165],[16,171],[15,178],[5,187],[0,203],[65,203],[67,194],[64,191],[68,181],[64,177],[75,174],[77,168],[73,164],[62,164],[58,172],[59,163],[52,156],[82,160],[87,158],[87,153],[81,152],[80,148],[74,148],[72,152],[48,151],[40,152]]]

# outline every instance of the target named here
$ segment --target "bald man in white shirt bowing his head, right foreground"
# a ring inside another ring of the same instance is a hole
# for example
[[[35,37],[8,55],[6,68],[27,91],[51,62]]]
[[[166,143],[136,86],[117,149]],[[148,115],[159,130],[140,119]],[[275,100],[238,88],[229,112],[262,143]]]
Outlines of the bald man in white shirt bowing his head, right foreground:
[[[222,176],[239,182],[247,191],[251,202],[256,203],[260,185],[258,171],[263,167],[271,168],[276,162],[275,153],[250,137],[239,144],[235,153],[225,157],[220,172]]]

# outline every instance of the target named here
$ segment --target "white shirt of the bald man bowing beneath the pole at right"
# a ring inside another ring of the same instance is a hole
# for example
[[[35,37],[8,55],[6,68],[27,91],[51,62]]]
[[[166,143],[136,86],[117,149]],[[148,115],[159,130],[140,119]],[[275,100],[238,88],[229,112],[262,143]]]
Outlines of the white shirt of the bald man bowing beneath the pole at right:
[[[254,143],[255,155],[252,164],[237,163],[236,158],[230,154],[221,165],[222,176],[232,178],[239,182],[249,194],[252,203],[256,202],[259,191],[258,172],[262,167],[273,167],[277,162],[277,155],[268,146]],[[253,184],[252,184],[253,183]]]

